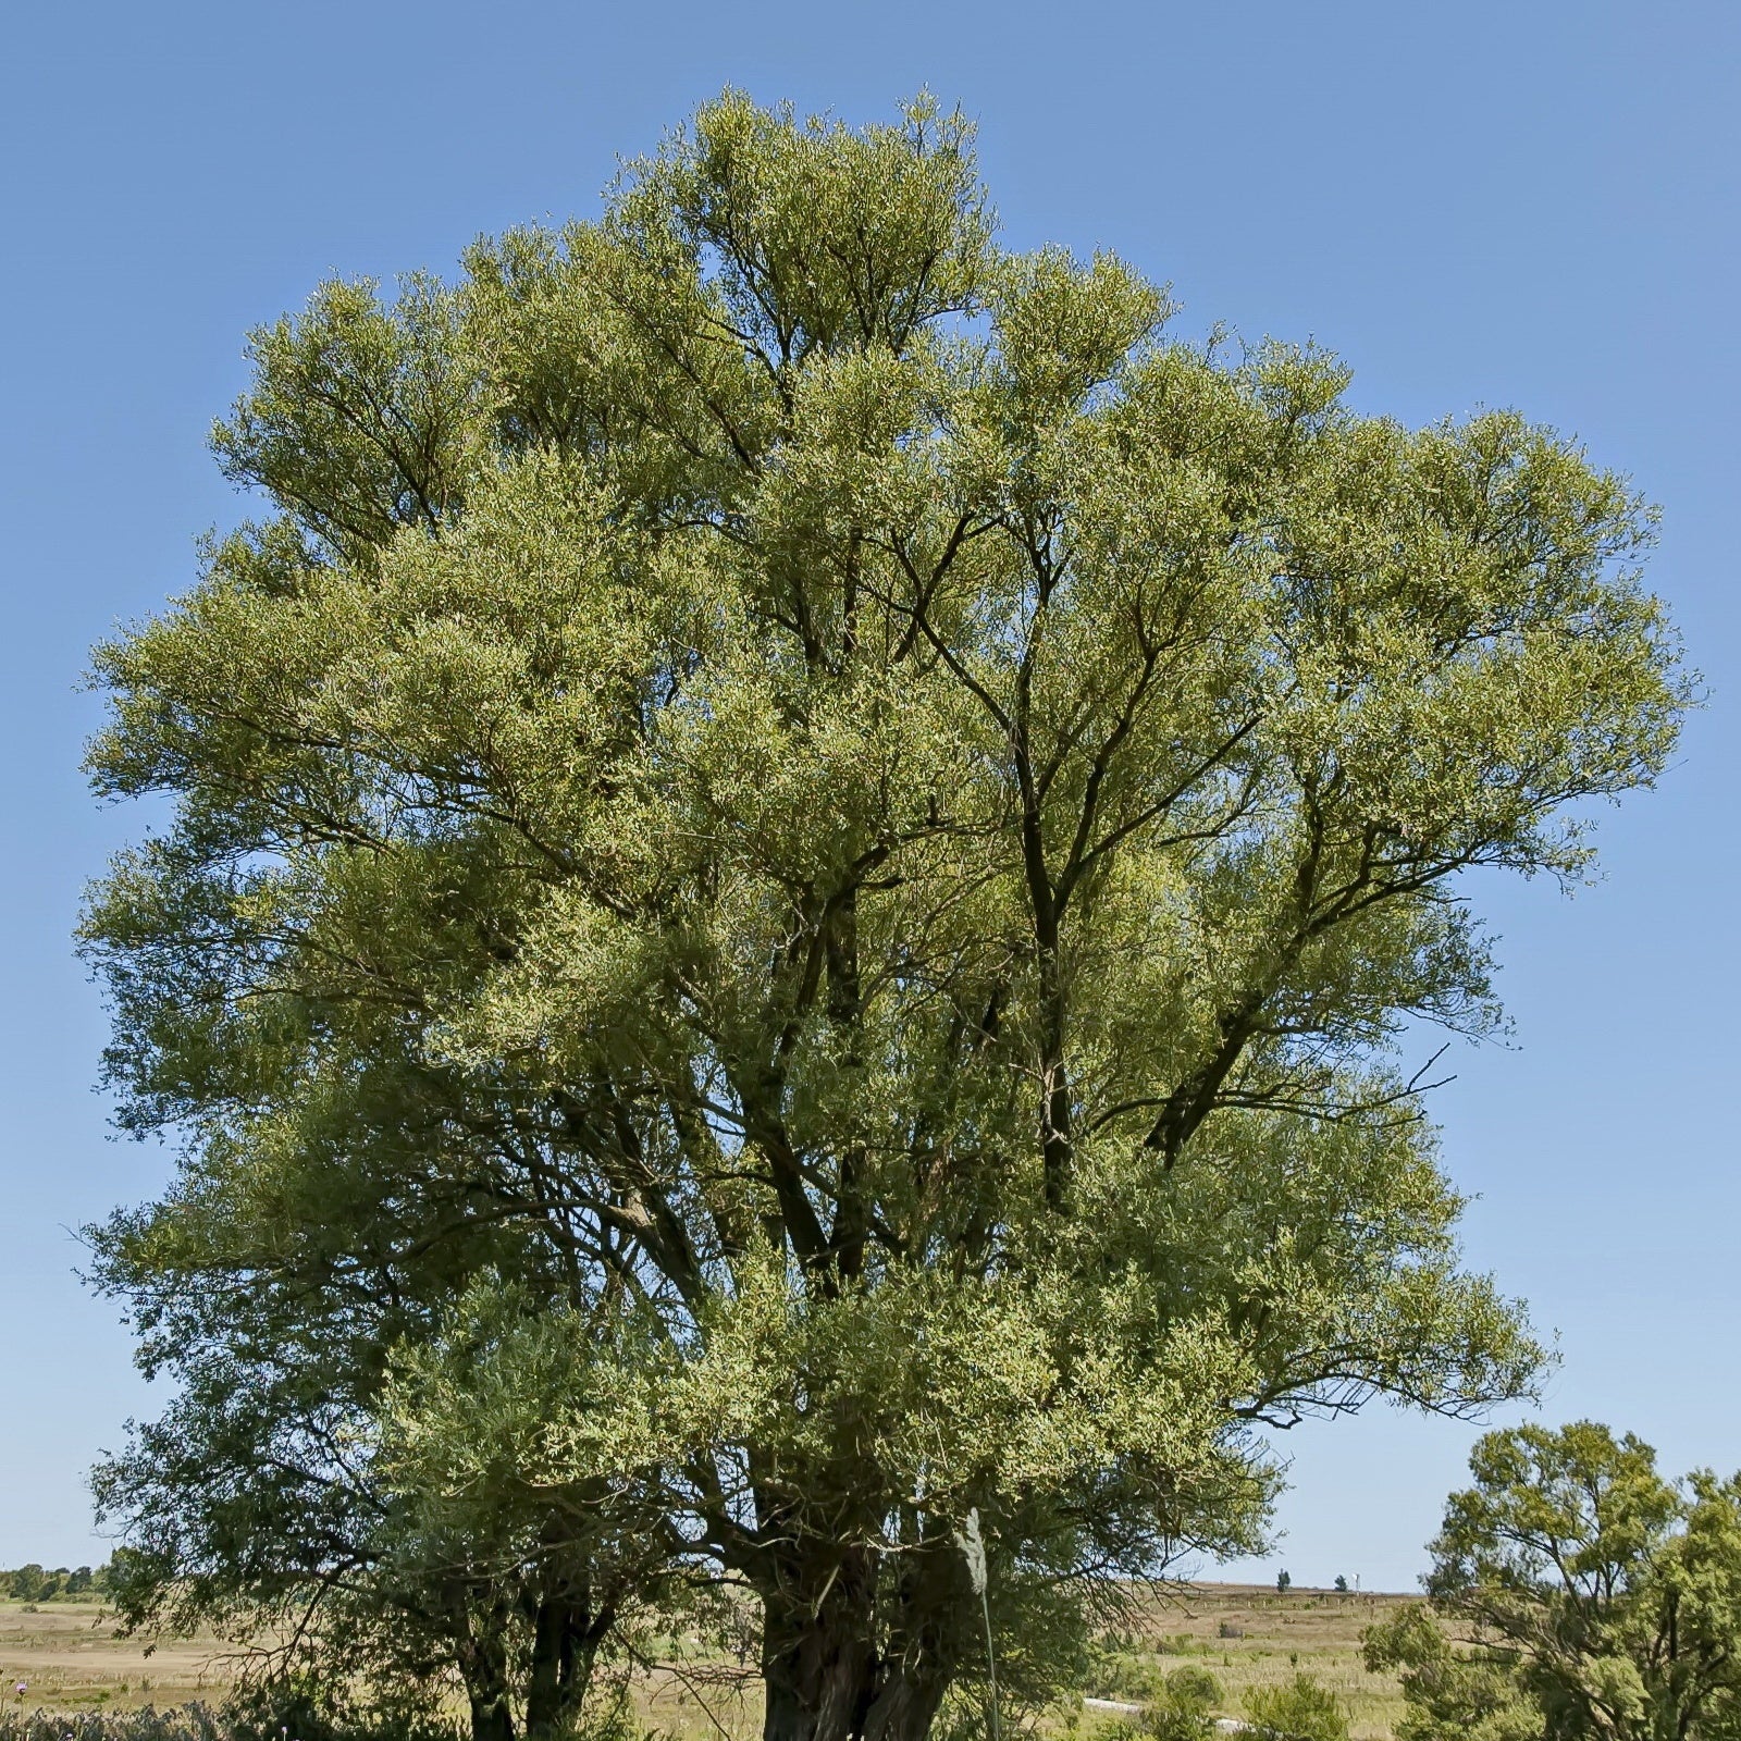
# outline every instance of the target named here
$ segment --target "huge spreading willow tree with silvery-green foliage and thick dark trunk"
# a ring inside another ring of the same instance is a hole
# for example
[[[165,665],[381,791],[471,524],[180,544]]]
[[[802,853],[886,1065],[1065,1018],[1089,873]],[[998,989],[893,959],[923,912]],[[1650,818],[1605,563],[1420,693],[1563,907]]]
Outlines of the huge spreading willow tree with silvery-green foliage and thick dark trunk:
[[[729,96],[254,336],[272,515],[99,655],[174,813],[87,926],[183,1156],[99,1234],[181,1381],[136,1617],[507,1736],[712,1583],[770,1741],[916,1741],[970,1509],[1041,1696],[1085,1581],[1257,1539],[1266,1424],[1532,1384],[1395,1043],[1496,1020],[1459,874],[1670,754],[1649,515],[1006,252],[970,145]]]

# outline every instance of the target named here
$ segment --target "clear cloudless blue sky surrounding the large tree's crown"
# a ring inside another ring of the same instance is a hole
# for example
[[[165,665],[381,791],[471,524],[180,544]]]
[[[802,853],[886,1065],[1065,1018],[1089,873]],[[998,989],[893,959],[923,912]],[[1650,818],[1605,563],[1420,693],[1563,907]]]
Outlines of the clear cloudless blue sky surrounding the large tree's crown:
[[[1731,1062],[1741,7],[1247,0],[17,7],[0,42],[0,1565],[80,1562],[84,1469],[151,1408],[68,1229],[167,1156],[106,1139],[78,891],[143,818],[78,775],[85,649],[240,505],[204,439],[245,327],[327,272],[447,268],[595,209],[724,84],[850,120],[928,85],[982,125],[1018,244],[1111,245],[1187,327],[1316,338],[1410,421],[1516,404],[1664,507],[1652,580],[1711,705],[1607,881],[1482,891],[1516,1048],[1440,1097],[1471,1259],[1558,1330],[1546,1414],[1741,1464]],[[1408,1588],[1469,1431],[1294,1435],[1297,1583]]]

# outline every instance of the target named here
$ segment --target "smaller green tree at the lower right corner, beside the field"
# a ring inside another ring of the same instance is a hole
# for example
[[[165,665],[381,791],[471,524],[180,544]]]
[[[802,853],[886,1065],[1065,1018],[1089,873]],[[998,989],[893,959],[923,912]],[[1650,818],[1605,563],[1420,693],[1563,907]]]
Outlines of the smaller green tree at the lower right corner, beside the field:
[[[1579,1421],[1482,1438],[1433,1543],[1431,1610],[1368,1628],[1402,1741],[1741,1734],[1741,1476],[1673,1485]]]

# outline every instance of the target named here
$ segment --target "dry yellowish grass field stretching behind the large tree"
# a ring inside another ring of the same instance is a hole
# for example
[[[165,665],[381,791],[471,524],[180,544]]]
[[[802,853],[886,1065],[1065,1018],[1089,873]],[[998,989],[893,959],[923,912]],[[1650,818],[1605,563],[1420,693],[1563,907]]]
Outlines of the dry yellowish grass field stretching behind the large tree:
[[[1119,1673],[1166,1673],[1184,1663],[1210,1670],[1226,1697],[1229,1717],[1241,1711],[1247,1689],[1269,1685],[1304,1671],[1330,1687],[1349,1708],[1354,1741],[1388,1741],[1402,1699],[1388,1675],[1368,1675],[1360,1663],[1360,1631],[1408,1596],[1325,1590],[1290,1590],[1276,1595],[1255,1584],[1187,1584],[1142,1603],[1123,1628],[1121,1645],[1107,1673],[1088,1691],[1126,1697]],[[113,1619],[94,1602],[49,1602],[26,1609],[0,1602],[0,1689],[7,1704],[54,1711],[129,1710],[141,1704],[219,1703],[230,1691],[237,1661],[221,1638],[190,1638],[160,1645],[150,1656],[138,1640],[117,1638]],[[756,1729],[754,1692],[735,1699],[717,1684],[710,1689],[709,1664],[693,1664],[693,1678],[660,1673],[637,1689],[642,1718],[674,1741],[735,1736]],[[24,1701],[16,1682],[30,1684]],[[709,1715],[712,1711],[712,1717]],[[1111,1718],[1086,1711],[1093,1731]]]

